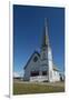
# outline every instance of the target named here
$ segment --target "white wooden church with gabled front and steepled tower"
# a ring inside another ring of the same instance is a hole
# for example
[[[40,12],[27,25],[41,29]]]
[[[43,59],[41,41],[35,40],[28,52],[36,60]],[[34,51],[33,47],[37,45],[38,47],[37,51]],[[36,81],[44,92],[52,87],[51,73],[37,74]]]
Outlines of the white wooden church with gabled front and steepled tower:
[[[26,81],[55,82],[63,80],[63,76],[60,74],[52,60],[48,32],[48,19],[46,19],[40,53],[34,51],[24,66],[23,80]]]

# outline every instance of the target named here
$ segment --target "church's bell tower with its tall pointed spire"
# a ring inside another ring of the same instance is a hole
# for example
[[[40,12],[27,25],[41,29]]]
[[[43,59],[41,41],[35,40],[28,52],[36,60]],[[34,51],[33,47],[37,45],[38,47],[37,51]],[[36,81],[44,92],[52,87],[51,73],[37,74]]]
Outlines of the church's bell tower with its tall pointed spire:
[[[40,52],[40,60],[41,60],[41,70],[47,71],[47,78],[48,81],[52,81],[52,53],[51,48],[49,43],[49,26],[48,26],[48,19],[45,19],[45,28],[43,28],[43,34],[42,34],[42,43],[41,43],[41,52]]]

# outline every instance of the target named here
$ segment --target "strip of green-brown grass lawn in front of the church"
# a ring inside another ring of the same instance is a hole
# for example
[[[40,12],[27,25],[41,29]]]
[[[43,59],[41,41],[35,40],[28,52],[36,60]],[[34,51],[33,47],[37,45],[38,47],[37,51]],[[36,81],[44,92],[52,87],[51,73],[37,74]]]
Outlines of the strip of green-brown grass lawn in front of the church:
[[[48,93],[48,92],[63,92],[65,86],[48,86],[40,83],[18,83],[13,82],[13,94],[30,94],[30,93]]]

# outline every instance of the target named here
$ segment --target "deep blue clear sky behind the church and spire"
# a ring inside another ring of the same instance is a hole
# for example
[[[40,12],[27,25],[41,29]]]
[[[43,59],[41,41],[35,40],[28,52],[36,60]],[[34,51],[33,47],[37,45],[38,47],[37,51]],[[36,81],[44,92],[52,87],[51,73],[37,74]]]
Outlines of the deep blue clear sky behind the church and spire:
[[[65,9],[52,7],[13,6],[13,71],[23,67],[34,50],[40,50],[45,18],[49,19],[49,40],[53,62],[60,71],[65,66]]]

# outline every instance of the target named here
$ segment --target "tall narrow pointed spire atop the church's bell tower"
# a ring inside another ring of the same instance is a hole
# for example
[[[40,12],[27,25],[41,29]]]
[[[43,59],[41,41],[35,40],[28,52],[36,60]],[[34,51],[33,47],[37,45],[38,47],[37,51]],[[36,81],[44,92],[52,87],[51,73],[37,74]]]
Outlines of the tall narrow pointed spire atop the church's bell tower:
[[[48,18],[45,19],[45,29],[43,29],[43,37],[42,37],[42,46],[49,46],[49,37],[48,37]]]

